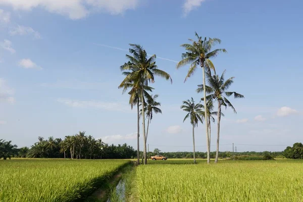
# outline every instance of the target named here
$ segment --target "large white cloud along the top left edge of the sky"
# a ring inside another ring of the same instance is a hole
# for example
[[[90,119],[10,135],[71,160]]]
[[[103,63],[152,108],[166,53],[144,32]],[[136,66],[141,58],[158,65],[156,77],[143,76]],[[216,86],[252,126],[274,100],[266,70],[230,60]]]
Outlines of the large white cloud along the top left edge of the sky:
[[[0,0],[0,5],[12,6],[15,10],[30,11],[39,7],[74,20],[97,11],[118,15],[135,9],[138,4],[139,0]]]

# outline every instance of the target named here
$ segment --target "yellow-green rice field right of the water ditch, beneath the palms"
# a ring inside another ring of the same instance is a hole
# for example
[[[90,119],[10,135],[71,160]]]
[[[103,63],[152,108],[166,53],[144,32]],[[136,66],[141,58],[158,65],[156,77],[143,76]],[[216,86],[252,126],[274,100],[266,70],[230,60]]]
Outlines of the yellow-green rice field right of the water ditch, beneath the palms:
[[[303,201],[303,161],[201,161],[137,167],[138,201]]]

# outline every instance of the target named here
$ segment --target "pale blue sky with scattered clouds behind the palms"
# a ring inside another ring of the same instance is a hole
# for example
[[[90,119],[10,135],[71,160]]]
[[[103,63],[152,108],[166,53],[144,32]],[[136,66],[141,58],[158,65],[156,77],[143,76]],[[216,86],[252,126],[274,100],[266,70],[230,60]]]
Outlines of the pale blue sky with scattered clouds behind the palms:
[[[302,8],[299,0],[0,0],[0,139],[30,146],[38,136],[84,130],[136,147],[136,113],[117,86],[128,43],[139,43],[173,79],[153,85],[163,114],[150,124],[149,148],[192,150],[180,105],[200,99],[202,72],[184,83],[188,67],[176,70],[175,61],[197,31],[222,40],[217,47],[228,53],[213,60],[217,73],[226,69],[235,77],[230,90],[245,96],[231,98],[236,115],[223,110],[220,150],[233,142],[238,151],[302,142]],[[204,125],[195,137],[205,151]]]

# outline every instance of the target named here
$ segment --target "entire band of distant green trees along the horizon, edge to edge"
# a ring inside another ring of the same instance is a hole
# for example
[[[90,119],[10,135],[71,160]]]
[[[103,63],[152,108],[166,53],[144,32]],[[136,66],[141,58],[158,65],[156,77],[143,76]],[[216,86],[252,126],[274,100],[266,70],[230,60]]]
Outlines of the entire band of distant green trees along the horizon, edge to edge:
[[[80,133],[80,132],[79,132]],[[84,132],[81,132],[83,134]],[[64,155],[65,147],[63,148],[63,144],[67,138],[62,140],[61,138],[54,139],[53,137],[49,137],[44,140],[43,137],[38,137],[38,142],[34,143],[31,148],[29,147],[21,147],[18,148],[17,145],[13,145],[12,141],[6,141],[4,139],[0,139],[0,159],[10,159],[12,157],[15,158],[69,158],[73,157],[74,159],[135,159],[137,158],[137,150],[135,150],[132,146],[124,144],[118,144],[117,146],[114,144],[100,144],[100,140],[95,140],[91,136],[84,135],[84,143],[81,149],[80,155],[80,144],[81,138],[77,137],[77,135],[73,135],[78,138],[78,143],[75,143],[75,151],[69,150]],[[69,137],[69,136],[66,136]],[[68,140],[70,141],[70,140]],[[91,143],[94,142],[95,146],[90,149]],[[72,144],[73,148],[74,145]],[[180,159],[180,158],[193,158],[192,151],[175,151],[175,152],[161,152],[160,149],[155,148],[154,151],[150,151],[146,153],[147,158],[151,156],[155,156],[161,154],[168,159]],[[288,159],[303,159],[303,144],[302,143],[294,143],[293,146],[288,146],[284,151],[243,151],[243,152],[235,152],[234,156],[265,156],[270,155],[274,158],[288,158]],[[72,155],[72,156],[71,156]],[[139,155],[143,155],[143,151],[139,151]],[[215,159],[217,155],[216,151],[212,151],[210,153],[210,158]],[[233,153],[231,151],[219,151],[218,158],[232,158]],[[207,159],[207,152],[196,152],[195,157],[198,159]]]

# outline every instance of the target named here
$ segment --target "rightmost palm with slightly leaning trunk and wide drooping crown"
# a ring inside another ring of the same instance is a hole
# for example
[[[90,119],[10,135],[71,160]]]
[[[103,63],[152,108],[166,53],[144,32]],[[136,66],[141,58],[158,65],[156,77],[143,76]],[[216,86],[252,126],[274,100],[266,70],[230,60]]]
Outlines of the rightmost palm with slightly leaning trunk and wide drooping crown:
[[[234,113],[237,113],[235,108],[232,106],[232,104],[229,102],[229,100],[226,97],[234,95],[234,98],[244,98],[243,95],[241,95],[237,92],[227,91],[228,88],[233,83],[234,77],[231,77],[225,81],[224,80],[225,72],[226,72],[226,70],[224,70],[221,77],[219,75],[212,76],[211,72],[207,72],[209,86],[199,85],[199,88],[197,89],[197,91],[204,91],[204,92],[210,93],[208,96],[206,96],[206,98],[204,98],[204,97],[201,98],[201,100],[214,99],[215,102],[218,103],[217,150],[216,150],[215,163],[218,162],[218,156],[219,156],[220,121],[221,121],[221,115],[222,115],[221,107],[222,106],[225,106],[225,108],[230,107],[231,109],[233,109]]]

